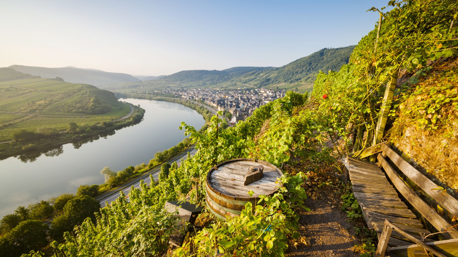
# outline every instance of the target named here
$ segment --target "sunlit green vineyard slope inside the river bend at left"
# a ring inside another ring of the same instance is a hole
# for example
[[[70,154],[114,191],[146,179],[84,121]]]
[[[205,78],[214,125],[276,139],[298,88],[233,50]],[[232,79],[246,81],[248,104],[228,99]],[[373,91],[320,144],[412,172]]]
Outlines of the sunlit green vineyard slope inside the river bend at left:
[[[68,124],[92,125],[126,116],[131,107],[114,94],[87,84],[31,78],[0,82],[0,142],[22,129],[59,131]]]

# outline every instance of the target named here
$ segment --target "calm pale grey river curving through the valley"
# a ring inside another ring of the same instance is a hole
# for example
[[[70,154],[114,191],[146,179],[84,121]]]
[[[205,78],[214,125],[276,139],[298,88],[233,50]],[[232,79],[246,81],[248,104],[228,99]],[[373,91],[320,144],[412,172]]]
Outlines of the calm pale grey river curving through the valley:
[[[181,122],[196,129],[205,122],[199,113],[177,103],[122,100],[146,110],[142,122],[93,139],[0,161],[0,217],[19,205],[75,193],[82,184],[103,183],[100,170],[104,166],[119,171],[148,163],[154,153],[185,138],[184,131],[178,129]]]

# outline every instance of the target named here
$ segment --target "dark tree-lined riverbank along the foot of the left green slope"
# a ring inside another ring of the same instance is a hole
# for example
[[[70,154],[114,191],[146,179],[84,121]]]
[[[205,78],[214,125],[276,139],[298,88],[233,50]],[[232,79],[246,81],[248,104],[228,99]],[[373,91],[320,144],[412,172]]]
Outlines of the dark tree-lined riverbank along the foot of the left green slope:
[[[117,120],[112,121],[104,121],[99,124],[87,126],[85,124],[76,124],[76,126],[84,127],[84,132],[79,133],[81,131],[61,131],[54,136],[48,137],[39,137],[38,134],[36,136],[32,136],[31,140],[24,140],[24,141],[9,141],[9,143],[0,144],[0,160],[6,159],[11,156],[26,154],[27,152],[33,150],[40,150],[49,147],[55,147],[59,145],[64,145],[67,143],[75,142],[81,139],[86,139],[93,137],[95,135],[103,134],[109,131],[113,131],[115,129],[121,129],[126,126],[130,126],[134,123],[137,123],[142,120],[145,110],[138,106],[132,106],[131,112],[124,117],[121,117]],[[128,119],[129,118],[129,119]],[[78,129],[79,129],[78,127]],[[81,129],[80,129],[81,130]]]

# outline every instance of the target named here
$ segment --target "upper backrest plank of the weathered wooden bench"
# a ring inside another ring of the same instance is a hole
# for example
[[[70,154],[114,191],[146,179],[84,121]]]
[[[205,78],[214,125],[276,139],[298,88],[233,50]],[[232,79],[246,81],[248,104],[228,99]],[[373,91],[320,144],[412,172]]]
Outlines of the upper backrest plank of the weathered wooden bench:
[[[383,152],[387,154],[393,163],[398,166],[405,176],[417,184],[425,193],[431,196],[441,206],[447,209],[451,214],[458,217],[458,200],[453,198],[447,193],[447,190],[437,190],[439,188],[436,183],[432,182],[425,175],[421,174],[420,171],[412,167],[407,161],[401,156],[394,152],[387,145],[382,145]]]

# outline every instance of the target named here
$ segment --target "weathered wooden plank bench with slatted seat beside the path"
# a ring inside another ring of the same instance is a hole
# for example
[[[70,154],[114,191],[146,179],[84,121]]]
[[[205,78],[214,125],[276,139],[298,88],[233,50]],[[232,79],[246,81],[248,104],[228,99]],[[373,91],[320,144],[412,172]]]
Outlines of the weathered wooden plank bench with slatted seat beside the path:
[[[361,158],[373,154],[377,154],[378,162],[376,164],[361,160]],[[354,197],[360,204],[365,221],[369,228],[376,230],[379,238],[382,234],[385,220],[395,224],[399,229],[419,240],[422,240],[425,235],[431,234],[424,227],[424,224],[418,220],[419,217],[399,198],[401,195],[437,231],[447,230],[442,233],[444,238],[458,238],[458,233],[456,233],[458,230],[452,228],[451,224],[410,189],[403,181],[403,178],[393,169],[389,161],[402,171],[405,177],[408,177],[456,217],[458,217],[458,200],[449,195],[446,190],[437,190],[440,187],[403,160],[386,144],[382,143],[355,154],[347,155],[342,161],[345,165],[343,180],[346,182],[349,179],[351,182]],[[426,238],[424,241],[425,243],[434,242],[430,238]],[[410,246],[412,243],[413,241],[409,236],[393,230],[387,246]],[[389,248],[387,252],[389,252]]]

